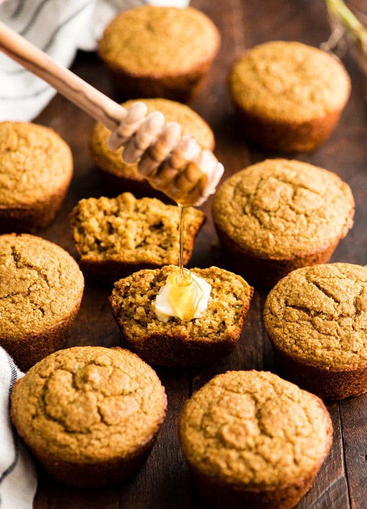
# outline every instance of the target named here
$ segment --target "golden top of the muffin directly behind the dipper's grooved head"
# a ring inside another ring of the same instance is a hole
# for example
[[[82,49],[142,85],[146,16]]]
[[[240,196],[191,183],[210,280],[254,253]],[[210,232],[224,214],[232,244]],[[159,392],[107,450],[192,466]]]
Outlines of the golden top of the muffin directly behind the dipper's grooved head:
[[[166,122],[178,122],[182,127],[182,135],[190,134],[193,136],[199,145],[204,149],[214,149],[214,135],[207,123],[199,117],[186,104],[181,104],[176,101],[168,99],[139,99],[144,102],[148,107],[148,114],[152,111],[161,111]],[[135,100],[126,101],[123,106],[130,108]],[[96,164],[104,169],[106,172],[113,173],[119,177],[133,179],[137,181],[144,180],[144,177],[138,172],[138,162],[128,164],[123,161],[122,154],[124,148],[118,150],[110,150],[107,146],[107,141],[110,136],[110,131],[103,124],[98,122],[91,134],[90,148]]]

